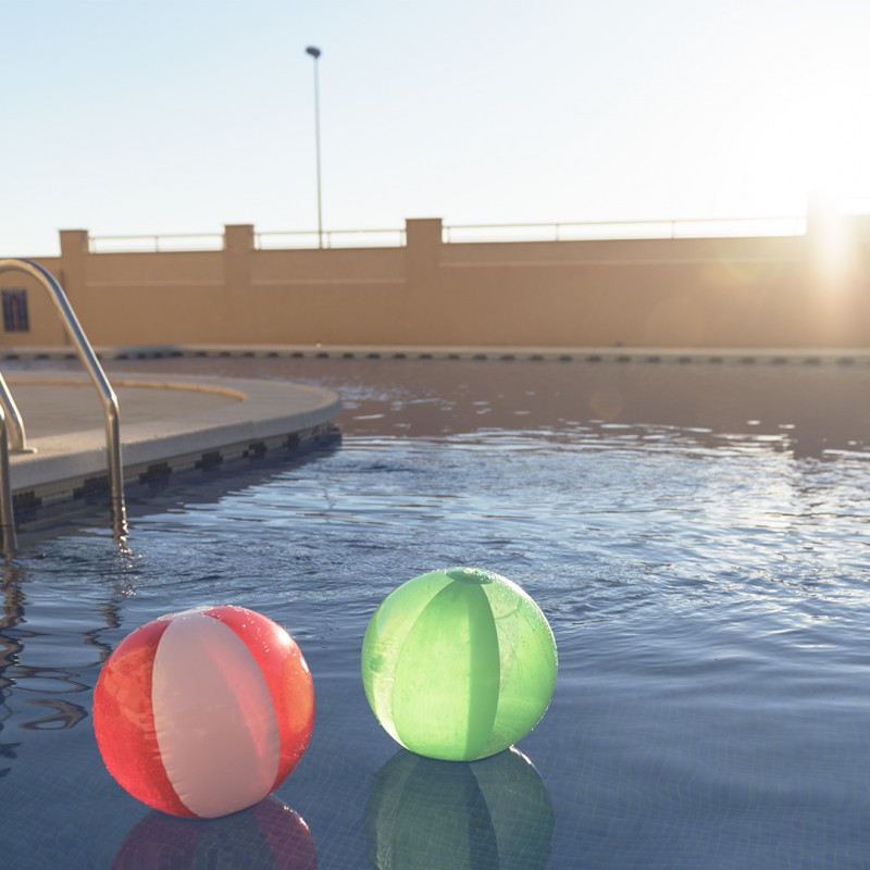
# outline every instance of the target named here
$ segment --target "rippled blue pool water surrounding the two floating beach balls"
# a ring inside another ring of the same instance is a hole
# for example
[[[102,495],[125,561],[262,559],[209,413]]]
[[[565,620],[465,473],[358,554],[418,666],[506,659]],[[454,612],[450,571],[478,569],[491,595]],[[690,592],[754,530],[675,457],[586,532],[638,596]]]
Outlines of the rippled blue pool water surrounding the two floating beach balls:
[[[1,867],[870,866],[870,369],[108,369],[322,384],[343,437],[133,492],[124,547],[99,519],[24,536],[2,574]],[[383,597],[458,564],[522,585],[559,648],[540,724],[473,765],[399,749],[359,676]],[[178,821],[105,772],[91,693],[129,631],[206,604],[287,627],[318,718],[273,799]]]

